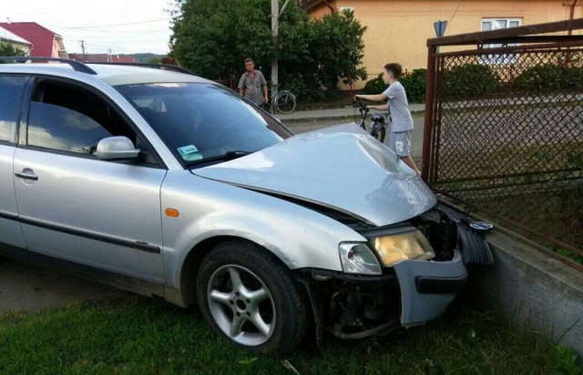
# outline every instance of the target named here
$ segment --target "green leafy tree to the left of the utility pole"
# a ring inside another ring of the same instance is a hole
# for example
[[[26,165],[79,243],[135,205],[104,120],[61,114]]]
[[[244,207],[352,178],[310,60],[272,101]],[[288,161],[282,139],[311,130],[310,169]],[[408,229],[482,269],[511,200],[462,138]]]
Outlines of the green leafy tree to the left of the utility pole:
[[[242,72],[244,59],[251,57],[266,70],[275,52],[269,1],[186,0],[179,5],[170,46],[184,67],[206,78],[226,78]]]

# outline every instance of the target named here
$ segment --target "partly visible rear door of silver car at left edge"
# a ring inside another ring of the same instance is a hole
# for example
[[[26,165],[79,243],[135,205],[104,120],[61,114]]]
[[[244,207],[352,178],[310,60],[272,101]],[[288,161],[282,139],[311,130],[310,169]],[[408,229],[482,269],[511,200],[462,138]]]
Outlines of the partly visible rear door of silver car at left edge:
[[[26,242],[18,222],[13,162],[16,124],[28,78],[0,76],[0,254],[26,257]]]

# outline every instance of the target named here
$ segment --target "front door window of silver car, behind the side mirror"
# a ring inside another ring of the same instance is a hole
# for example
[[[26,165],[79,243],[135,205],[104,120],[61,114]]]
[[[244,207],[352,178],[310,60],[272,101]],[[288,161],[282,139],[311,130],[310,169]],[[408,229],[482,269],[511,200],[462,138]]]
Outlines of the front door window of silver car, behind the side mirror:
[[[58,81],[41,81],[33,94],[27,144],[58,151],[93,154],[104,138],[137,141],[128,124],[97,94]]]

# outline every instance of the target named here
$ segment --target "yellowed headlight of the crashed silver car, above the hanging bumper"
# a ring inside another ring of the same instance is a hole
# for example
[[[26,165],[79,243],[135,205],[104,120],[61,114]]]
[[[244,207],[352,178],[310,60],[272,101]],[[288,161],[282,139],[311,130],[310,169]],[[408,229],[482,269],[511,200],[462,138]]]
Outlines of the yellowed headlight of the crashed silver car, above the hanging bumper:
[[[435,257],[433,247],[418,230],[376,237],[371,244],[386,267],[406,259],[429,260]]]

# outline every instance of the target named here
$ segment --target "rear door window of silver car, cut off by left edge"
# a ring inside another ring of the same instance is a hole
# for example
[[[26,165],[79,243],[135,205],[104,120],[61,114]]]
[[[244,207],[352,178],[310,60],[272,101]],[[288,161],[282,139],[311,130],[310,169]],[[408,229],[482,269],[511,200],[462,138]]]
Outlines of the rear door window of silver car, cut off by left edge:
[[[0,141],[10,141],[12,125],[20,117],[26,77],[0,76]]]

